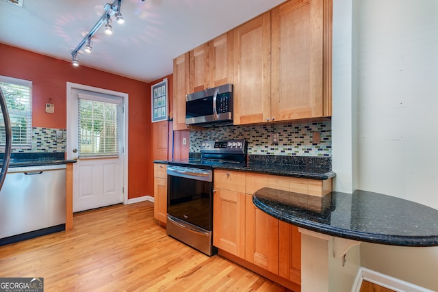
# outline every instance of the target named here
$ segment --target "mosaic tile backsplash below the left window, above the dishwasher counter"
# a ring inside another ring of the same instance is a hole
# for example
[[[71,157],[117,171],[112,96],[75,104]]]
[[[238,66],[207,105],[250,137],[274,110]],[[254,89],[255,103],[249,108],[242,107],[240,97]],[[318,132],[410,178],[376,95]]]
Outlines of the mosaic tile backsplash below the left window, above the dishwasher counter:
[[[56,131],[62,131],[62,139],[56,139]],[[32,128],[31,148],[12,148],[12,153],[66,152],[66,129]]]

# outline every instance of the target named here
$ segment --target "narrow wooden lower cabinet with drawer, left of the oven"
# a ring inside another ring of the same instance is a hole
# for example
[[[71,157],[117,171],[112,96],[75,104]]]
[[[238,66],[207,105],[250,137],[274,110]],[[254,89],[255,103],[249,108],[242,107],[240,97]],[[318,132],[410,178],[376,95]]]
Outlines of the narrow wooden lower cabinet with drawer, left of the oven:
[[[154,163],[153,196],[154,207],[153,217],[160,223],[167,221],[167,165]]]

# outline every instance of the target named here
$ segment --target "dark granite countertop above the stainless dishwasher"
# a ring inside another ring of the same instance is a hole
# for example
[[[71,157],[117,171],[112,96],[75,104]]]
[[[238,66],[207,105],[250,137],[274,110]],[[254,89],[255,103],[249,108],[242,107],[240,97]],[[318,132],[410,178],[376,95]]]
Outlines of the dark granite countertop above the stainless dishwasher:
[[[76,162],[75,160],[67,160],[64,156],[64,152],[12,153],[9,167],[21,168],[25,166],[57,165]],[[2,163],[0,163],[0,166]]]

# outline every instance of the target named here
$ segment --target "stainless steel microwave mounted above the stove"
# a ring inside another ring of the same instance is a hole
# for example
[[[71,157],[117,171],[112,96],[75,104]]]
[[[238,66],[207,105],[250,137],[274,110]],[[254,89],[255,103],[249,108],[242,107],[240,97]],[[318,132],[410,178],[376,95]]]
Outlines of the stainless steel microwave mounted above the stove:
[[[185,124],[211,127],[219,123],[233,124],[233,84],[185,96]]]

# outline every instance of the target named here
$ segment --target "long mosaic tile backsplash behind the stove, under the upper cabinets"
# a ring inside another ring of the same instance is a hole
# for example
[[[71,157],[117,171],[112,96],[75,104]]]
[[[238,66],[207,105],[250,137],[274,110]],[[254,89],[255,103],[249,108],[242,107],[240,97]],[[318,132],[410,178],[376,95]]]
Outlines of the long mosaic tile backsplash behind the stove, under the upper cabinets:
[[[320,143],[312,144],[312,133],[320,132]],[[272,134],[279,144],[272,145]],[[200,152],[205,140],[246,139],[249,155],[296,155],[331,157],[331,121],[306,124],[266,124],[227,126],[190,132],[190,152]]]

